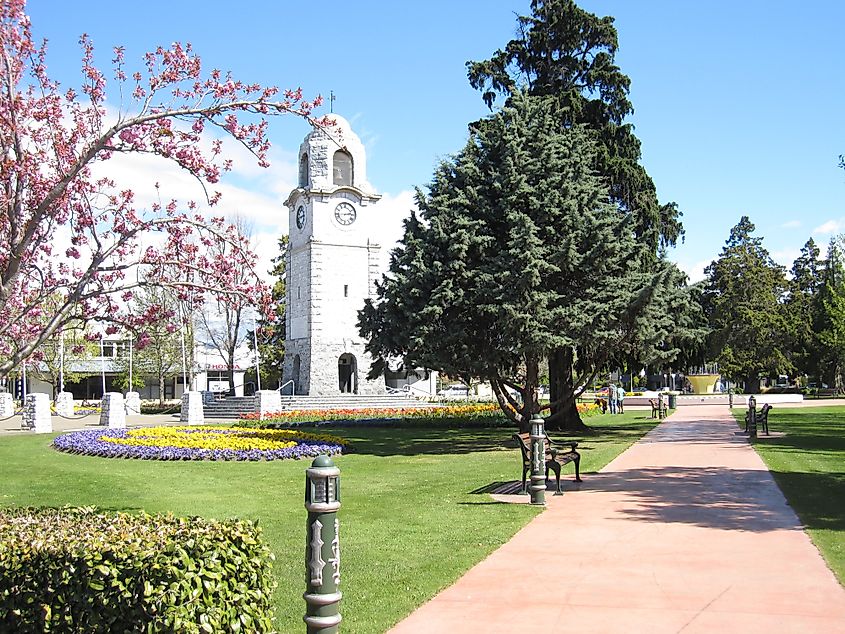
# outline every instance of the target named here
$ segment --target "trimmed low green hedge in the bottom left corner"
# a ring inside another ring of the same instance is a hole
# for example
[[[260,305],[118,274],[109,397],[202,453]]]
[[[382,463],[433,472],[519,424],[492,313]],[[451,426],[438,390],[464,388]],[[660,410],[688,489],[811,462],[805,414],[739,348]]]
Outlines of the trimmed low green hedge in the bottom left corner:
[[[273,631],[260,532],[241,520],[0,509],[0,631]]]

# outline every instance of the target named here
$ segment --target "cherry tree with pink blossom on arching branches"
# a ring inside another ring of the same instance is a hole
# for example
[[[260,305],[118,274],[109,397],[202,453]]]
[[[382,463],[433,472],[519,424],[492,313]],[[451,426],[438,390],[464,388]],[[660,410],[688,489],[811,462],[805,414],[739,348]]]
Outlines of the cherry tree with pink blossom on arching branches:
[[[204,73],[190,44],[147,53],[133,73],[115,48],[107,77],[86,35],[81,86],[65,88],[48,75],[25,8],[0,0],[0,377],[64,324],[98,320],[117,332],[145,284],[193,303],[248,297],[263,308],[269,294],[245,238],[208,213],[232,167],[224,139],[266,167],[268,117],[310,119],[320,98]],[[125,154],[186,170],[202,204],[167,202],[162,183],[159,202],[142,208],[130,184],[101,176]]]

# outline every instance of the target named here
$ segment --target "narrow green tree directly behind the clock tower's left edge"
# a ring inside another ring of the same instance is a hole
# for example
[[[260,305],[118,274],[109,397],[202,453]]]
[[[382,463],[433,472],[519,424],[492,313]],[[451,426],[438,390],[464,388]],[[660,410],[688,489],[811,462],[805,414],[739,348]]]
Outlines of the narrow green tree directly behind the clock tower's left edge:
[[[280,386],[282,364],[285,360],[285,256],[288,250],[288,236],[279,238],[279,255],[273,258],[269,273],[275,278],[270,291],[272,312],[264,315],[258,323],[258,354],[261,367],[261,385],[265,388]],[[247,345],[255,352],[255,337],[247,333]],[[245,380],[255,380],[255,370],[250,368]]]

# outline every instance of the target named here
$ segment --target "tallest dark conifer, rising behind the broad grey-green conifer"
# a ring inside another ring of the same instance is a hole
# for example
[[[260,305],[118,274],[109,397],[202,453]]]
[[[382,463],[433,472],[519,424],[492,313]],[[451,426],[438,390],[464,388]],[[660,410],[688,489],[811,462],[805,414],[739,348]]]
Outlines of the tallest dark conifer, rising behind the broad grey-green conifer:
[[[607,183],[610,200],[637,239],[639,264],[644,270],[654,270],[664,266],[656,261],[665,248],[683,236],[681,213],[675,203],[658,202],[654,182],[640,164],[640,141],[633,126],[625,122],[633,113],[628,98],[631,80],[616,65],[617,49],[612,17],[598,17],[573,0],[532,0],[531,15],[517,18],[516,37],[490,59],[467,62],[467,71],[470,84],[482,91],[491,108],[498,97],[507,100],[520,91],[549,96],[561,125],[581,124],[595,132],[594,169]],[[686,301],[682,304],[678,310],[689,308]],[[670,307],[670,311],[675,309]],[[692,313],[687,311],[678,321],[689,321]],[[682,338],[688,334],[692,331]],[[670,342],[664,347],[677,352]],[[622,350],[616,353],[615,364],[649,362],[644,357],[624,357]],[[578,358],[577,351],[570,349],[550,353],[554,401],[564,398],[578,372]],[[561,410],[554,407],[553,412],[557,416]],[[574,406],[563,415],[575,416]]]

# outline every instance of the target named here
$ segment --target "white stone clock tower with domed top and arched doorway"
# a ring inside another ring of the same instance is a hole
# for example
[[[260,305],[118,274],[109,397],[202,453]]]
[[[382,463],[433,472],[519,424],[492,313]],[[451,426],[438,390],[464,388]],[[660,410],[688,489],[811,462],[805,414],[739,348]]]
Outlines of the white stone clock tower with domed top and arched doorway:
[[[349,123],[315,127],[299,148],[299,186],[288,196],[284,381],[296,394],[382,394],[367,380],[370,357],[358,311],[375,295],[381,196],[367,182],[364,146]]]

